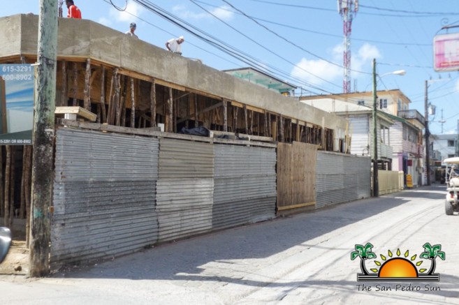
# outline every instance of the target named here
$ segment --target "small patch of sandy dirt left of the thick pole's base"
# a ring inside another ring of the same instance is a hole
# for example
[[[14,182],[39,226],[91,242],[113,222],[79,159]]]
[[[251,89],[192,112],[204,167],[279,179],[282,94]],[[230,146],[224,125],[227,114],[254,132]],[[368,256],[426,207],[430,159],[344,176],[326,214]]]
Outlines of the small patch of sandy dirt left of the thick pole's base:
[[[29,273],[29,249],[26,242],[13,240],[10,251],[0,264],[0,275],[27,275]]]

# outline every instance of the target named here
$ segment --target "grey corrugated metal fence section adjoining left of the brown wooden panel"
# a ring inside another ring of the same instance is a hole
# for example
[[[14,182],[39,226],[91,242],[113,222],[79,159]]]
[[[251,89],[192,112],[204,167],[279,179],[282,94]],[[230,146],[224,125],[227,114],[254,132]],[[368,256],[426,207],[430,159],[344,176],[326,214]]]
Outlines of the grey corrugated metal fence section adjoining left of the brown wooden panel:
[[[214,150],[212,227],[229,228],[274,218],[275,149],[216,144]]]

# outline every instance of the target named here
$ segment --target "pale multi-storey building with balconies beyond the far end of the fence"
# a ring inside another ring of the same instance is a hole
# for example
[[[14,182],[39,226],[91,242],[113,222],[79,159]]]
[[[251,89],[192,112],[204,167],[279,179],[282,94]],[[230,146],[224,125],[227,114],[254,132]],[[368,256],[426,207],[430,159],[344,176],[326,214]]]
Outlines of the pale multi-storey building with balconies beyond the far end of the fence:
[[[349,119],[351,154],[371,154],[371,91],[301,96],[300,101]],[[399,89],[377,91],[378,163],[381,169],[403,171],[405,185],[409,174],[413,186],[421,186],[427,178],[422,132],[425,119],[417,110],[409,109],[410,103]]]

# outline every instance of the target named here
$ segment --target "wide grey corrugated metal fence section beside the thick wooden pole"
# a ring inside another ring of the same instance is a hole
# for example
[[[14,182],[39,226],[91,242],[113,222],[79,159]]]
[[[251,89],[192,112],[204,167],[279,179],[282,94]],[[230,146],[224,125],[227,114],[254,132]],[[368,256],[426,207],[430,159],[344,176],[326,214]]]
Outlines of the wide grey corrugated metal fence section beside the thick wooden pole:
[[[156,243],[159,141],[57,130],[51,262],[109,258]]]

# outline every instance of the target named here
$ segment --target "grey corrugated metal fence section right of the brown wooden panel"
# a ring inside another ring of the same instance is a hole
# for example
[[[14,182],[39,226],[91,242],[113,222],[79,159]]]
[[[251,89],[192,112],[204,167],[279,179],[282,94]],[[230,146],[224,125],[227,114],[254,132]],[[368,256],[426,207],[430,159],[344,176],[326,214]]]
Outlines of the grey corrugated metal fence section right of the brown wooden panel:
[[[317,152],[316,207],[370,197],[370,158]]]

